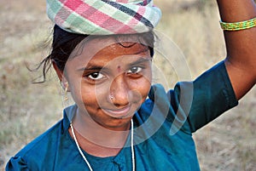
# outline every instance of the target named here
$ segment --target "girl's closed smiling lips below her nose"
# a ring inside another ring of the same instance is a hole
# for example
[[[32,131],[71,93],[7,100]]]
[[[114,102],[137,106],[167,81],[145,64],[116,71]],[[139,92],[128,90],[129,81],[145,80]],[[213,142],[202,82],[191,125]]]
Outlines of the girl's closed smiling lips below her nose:
[[[131,114],[131,112],[130,112],[131,105],[127,105],[121,109],[102,108],[102,111],[104,111],[106,114],[108,114],[111,117],[124,118],[124,117],[128,117]]]

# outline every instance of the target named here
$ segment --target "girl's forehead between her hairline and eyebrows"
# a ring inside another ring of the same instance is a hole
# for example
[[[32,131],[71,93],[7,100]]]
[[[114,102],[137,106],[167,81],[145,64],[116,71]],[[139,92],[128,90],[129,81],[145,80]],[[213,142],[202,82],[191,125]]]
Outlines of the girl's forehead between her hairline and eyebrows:
[[[137,39],[134,41],[130,39],[129,42],[113,37],[84,39],[74,50],[73,56],[75,57],[69,59],[68,62],[86,66],[91,60],[107,62],[126,55],[149,56],[148,46],[139,43]]]

